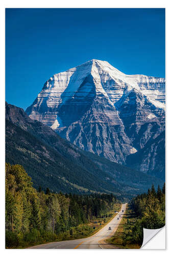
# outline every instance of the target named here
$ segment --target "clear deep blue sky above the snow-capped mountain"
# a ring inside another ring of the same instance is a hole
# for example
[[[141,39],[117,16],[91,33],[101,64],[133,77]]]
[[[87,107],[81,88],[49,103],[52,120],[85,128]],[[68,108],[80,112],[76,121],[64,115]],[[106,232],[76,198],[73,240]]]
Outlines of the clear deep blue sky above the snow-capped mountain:
[[[165,77],[164,9],[6,9],[6,100],[26,109],[53,74],[90,59]]]

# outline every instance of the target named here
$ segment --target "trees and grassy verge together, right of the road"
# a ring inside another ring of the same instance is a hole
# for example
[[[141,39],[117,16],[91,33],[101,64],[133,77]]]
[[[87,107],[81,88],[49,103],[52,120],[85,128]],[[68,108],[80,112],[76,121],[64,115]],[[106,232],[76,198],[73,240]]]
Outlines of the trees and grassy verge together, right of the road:
[[[165,184],[157,191],[154,186],[148,193],[138,195],[128,204],[126,214],[115,235],[107,242],[118,248],[140,248],[143,228],[157,229],[165,225]]]

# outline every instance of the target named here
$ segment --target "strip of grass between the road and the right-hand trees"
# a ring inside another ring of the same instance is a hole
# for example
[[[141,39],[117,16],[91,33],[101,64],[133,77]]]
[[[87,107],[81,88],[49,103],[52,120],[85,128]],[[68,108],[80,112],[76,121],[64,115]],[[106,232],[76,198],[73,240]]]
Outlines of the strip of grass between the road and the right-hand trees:
[[[139,249],[141,245],[131,244],[128,241],[127,231],[131,231],[129,229],[130,226],[134,225],[137,217],[134,212],[130,209],[130,206],[127,205],[126,213],[122,218],[122,221],[118,225],[118,228],[112,238],[106,240],[107,243],[117,246],[121,249]],[[128,230],[127,230],[128,228]]]

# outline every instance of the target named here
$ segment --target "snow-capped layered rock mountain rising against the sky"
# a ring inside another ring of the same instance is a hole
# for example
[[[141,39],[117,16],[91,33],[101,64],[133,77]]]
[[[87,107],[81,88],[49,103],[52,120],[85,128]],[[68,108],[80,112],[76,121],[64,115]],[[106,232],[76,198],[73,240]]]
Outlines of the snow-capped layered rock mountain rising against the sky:
[[[164,103],[164,78],[93,59],[48,79],[26,112],[83,150],[126,164],[164,131]]]

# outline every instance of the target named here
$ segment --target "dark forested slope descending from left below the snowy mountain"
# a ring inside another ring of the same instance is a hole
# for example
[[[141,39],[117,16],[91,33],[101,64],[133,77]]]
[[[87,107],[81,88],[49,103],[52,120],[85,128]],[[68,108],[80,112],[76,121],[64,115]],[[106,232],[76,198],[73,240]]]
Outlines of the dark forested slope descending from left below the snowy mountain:
[[[110,162],[60,138],[50,127],[6,103],[6,161],[21,164],[34,186],[64,193],[112,192],[131,197],[162,181]]]

